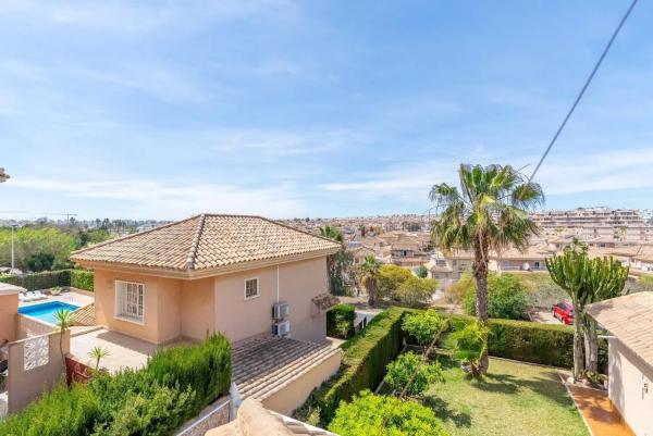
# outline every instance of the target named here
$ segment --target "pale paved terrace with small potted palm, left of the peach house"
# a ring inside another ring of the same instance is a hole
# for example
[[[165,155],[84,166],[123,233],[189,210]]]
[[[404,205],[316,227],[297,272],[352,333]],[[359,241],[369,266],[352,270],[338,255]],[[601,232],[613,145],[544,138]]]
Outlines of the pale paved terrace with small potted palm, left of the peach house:
[[[168,347],[193,344],[189,340],[178,340],[167,344]],[[136,339],[118,332],[109,332],[98,328],[71,337],[71,353],[85,363],[95,366],[95,362],[88,356],[94,347],[102,347],[109,351],[109,356],[102,358],[100,366],[111,373],[132,368],[143,368],[150,356],[157,352],[161,346]]]

